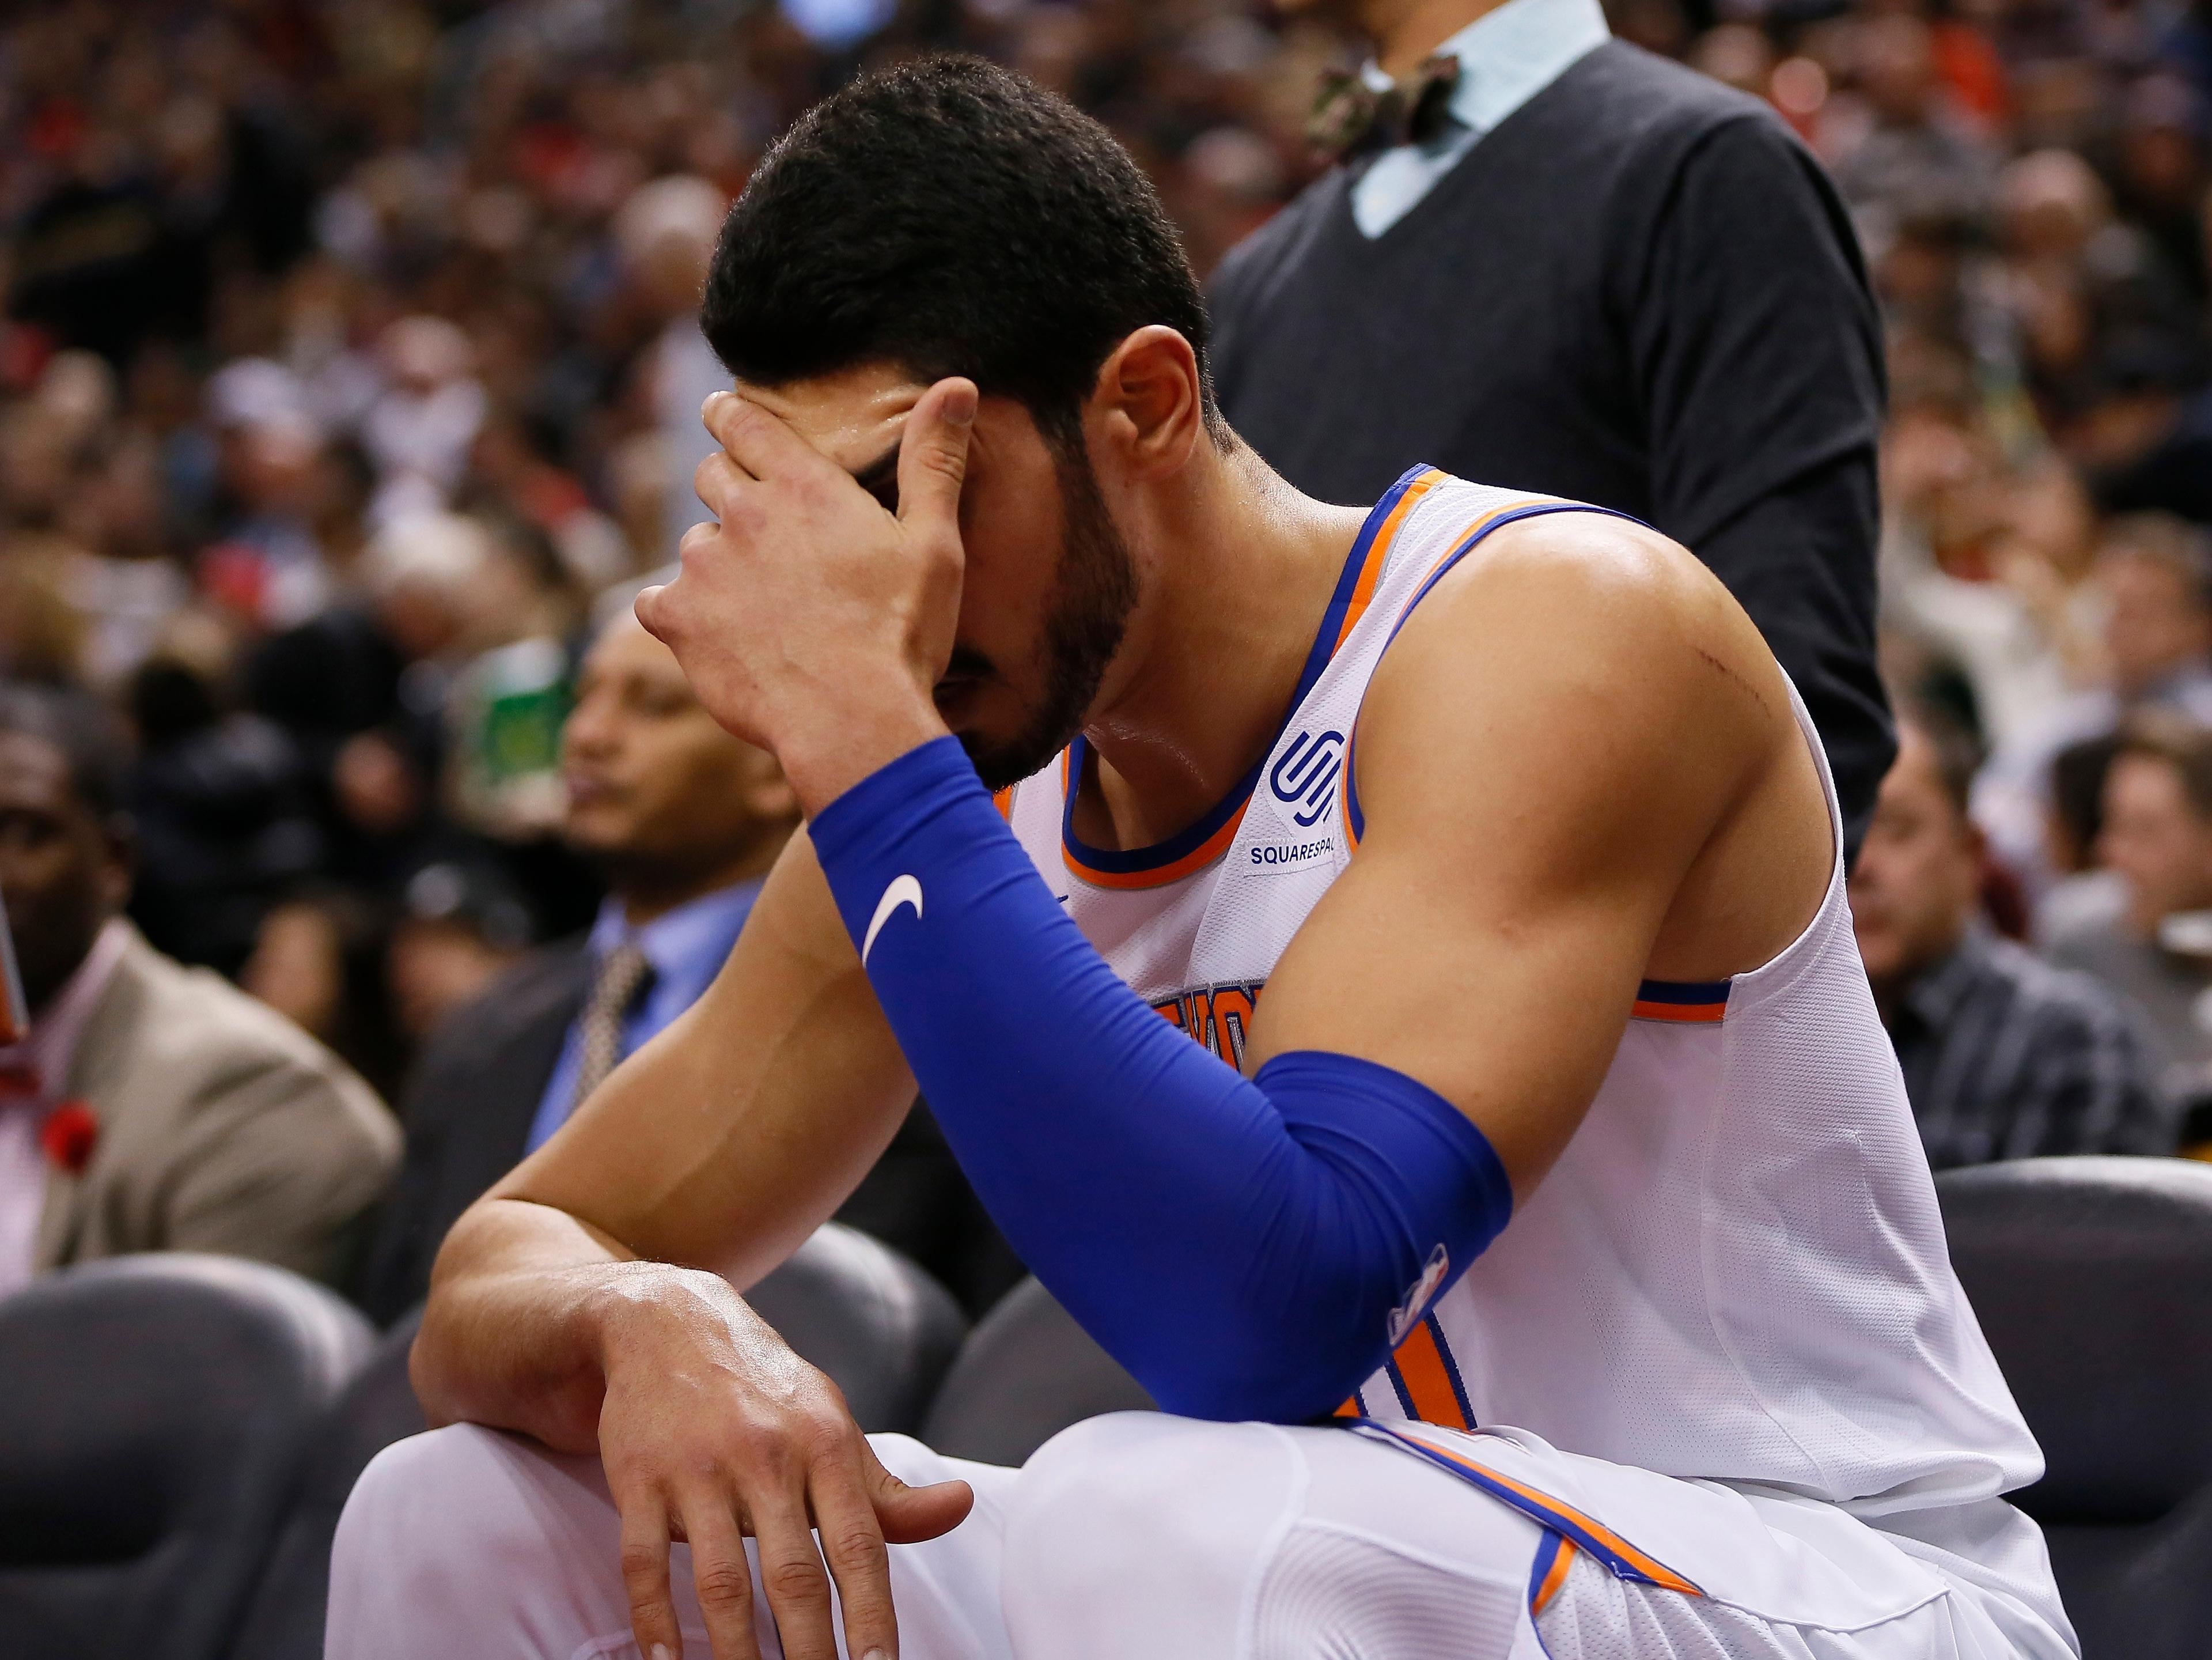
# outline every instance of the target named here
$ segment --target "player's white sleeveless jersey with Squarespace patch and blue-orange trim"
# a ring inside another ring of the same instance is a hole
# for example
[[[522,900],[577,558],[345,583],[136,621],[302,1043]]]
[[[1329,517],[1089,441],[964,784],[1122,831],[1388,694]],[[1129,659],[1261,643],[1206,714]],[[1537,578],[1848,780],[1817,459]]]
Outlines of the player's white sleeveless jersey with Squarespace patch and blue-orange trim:
[[[1000,795],[1115,972],[1230,1065],[1276,958],[1354,857],[1347,746],[1394,631],[1482,536],[1548,511],[1599,509],[1433,469],[1398,480],[1352,549],[1272,750],[1175,841],[1075,839],[1082,739]],[[1973,1529],[1907,1512],[2026,1485],[2042,1454],[1951,1273],[1851,936],[1827,759],[1794,691],[1792,704],[1838,845],[1818,916],[1750,974],[1644,983],[1557,1166],[1442,1299],[1425,1313],[1427,1288],[1411,1299],[1396,1357],[1347,1405],[1785,1490],[1973,1556],[1949,1538]]]

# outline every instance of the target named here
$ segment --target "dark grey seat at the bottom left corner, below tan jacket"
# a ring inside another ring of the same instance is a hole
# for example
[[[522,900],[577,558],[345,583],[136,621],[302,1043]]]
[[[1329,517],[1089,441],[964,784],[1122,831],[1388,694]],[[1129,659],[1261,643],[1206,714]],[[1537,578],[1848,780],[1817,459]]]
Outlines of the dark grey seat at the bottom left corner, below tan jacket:
[[[0,1649],[219,1660],[374,1332],[263,1264],[115,1257],[0,1304]]]

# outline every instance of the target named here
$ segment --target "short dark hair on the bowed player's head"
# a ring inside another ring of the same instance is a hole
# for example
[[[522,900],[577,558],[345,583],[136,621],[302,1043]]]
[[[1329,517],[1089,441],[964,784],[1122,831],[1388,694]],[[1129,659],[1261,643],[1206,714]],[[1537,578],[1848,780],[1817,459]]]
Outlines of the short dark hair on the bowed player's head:
[[[1190,341],[1206,383],[1206,303],[1150,181],[1095,120],[980,58],[905,62],[807,111],[730,208],[699,321],[741,381],[964,374],[1055,443],[1148,323]]]

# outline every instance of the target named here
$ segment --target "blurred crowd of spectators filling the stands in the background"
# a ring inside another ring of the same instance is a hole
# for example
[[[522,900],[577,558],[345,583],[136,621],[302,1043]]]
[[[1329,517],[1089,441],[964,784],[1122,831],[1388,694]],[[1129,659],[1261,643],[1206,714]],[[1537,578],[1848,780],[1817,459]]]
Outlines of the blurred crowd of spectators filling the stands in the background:
[[[2212,4],[1610,13],[1834,170],[1889,328],[1885,666],[1971,753],[1975,927],[2121,994],[2181,1100],[2212,1060]],[[398,1100],[593,923],[564,722],[595,606],[699,516],[712,237],[801,108],[922,46],[1106,120],[1201,274],[1314,177],[1347,58],[1265,0],[11,9],[0,675],[122,715],[153,947]]]

